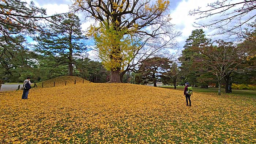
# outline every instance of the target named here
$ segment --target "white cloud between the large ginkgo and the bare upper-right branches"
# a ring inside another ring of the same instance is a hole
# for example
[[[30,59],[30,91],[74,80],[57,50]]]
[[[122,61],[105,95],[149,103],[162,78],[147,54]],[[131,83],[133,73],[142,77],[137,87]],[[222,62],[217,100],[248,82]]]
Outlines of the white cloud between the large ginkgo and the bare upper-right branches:
[[[192,30],[195,29],[200,29],[197,27],[193,27],[194,22],[196,23],[200,23],[200,24],[209,24],[211,20],[216,20],[216,19],[222,19],[223,17],[227,17],[227,16],[223,16],[220,14],[216,14],[214,16],[211,16],[209,18],[204,18],[204,19],[197,19],[202,15],[196,15],[196,16],[191,16],[188,15],[189,11],[191,10],[197,10],[199,7],[201,10],[209,10],[210,7],[207,7],[208,4],[210,3],[214,3],[216,2],[216,0],[182,0],[177,7],[171,12],[171,17],[172,19],[172,23],[176,24],[176,29],[178,31],[182,32],[181,37],[177,38],[177,41],[179,42],[180,47],[182,48],[185,44],[186,39],[189,37],[189,35],[191,35]],[[241,2],[241,0],[230,0],[227,1],[226,3],[238,3]],[[242,7],[242,4],[238,4],[232,8],[230,8],[228,11],[225,12],[225,14],[229,13],[229,12],[233,12],[234,10],[238,9],[239,7]],[[214,12],[219,12],[219,10],[216,11],[212,11],[212,13]],[[251,14],[248,14],[247,17],[251,16]],[[246,17],[246,16],[245,16]],[[227,27],[232,27],[234,24],[236,24],[235,21],[229,23],[227,25]],[[246,26],[243,26],[242,28],[244,28]],[[202,28],[205,32],[205,34],[207,35],[208,38],[211,38],[212,40],[217,40],[217,39],[228,39],[228,38],[232,38],[229,35],[214,35],[215,33],[217,33],[219,30],[218,29],[208,29],[208,28]],[[211,36],[209,36],[211,35]],[[213,36],[214,35],[214,36]]]

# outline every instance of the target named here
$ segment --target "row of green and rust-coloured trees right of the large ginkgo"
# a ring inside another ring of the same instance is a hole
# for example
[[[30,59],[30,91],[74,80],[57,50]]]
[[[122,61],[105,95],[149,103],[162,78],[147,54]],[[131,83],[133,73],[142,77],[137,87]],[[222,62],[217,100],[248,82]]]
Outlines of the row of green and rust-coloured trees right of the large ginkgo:
[[[246,37],[256,37],[256,21],[248,24]],[[235,84],[256,84],[256,42],[245,39],[240,43],[208,39],[202,29],[192,31],[184,50],[176,62],[153,57],[145,60],[135,81],[139,84],[162,82],[172,84],[191,83],[192,86],[208,88]]]

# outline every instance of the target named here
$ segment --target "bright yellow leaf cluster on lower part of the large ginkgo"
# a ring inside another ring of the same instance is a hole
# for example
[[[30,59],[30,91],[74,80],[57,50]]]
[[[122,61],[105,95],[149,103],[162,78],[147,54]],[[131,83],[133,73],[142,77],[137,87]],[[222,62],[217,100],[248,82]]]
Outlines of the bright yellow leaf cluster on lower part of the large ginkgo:
[[[99,27],[91,26],[89,35],[93,35],[95,45],[98,49],[98,56],[108,71],[115,71],[124,67],[134,58],[133,53],[139,48],[132,39],[134,29],[120,29],[107,23]]]

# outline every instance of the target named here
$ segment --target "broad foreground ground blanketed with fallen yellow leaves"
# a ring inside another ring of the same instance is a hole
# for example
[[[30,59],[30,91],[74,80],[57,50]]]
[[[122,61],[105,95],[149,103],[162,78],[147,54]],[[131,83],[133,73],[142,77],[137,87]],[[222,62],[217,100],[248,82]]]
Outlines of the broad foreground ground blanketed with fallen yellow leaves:
[[[0,143],[256,143],[256,100],[134,84],[0,93]]]

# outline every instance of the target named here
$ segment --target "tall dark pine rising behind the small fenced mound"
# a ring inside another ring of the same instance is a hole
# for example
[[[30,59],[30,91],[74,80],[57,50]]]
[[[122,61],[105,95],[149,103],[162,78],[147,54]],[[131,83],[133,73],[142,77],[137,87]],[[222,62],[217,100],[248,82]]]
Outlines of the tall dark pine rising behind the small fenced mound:
[[[52,17],[52,24],[36,40],[36,50],[45,56],[52,54],[56,66],[68,64],[68,75],[73,75],[73,65],[78,65],[74,57],[83,57],[86,46],[82,35],[81,23],[75,14]]]

